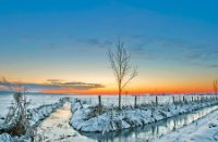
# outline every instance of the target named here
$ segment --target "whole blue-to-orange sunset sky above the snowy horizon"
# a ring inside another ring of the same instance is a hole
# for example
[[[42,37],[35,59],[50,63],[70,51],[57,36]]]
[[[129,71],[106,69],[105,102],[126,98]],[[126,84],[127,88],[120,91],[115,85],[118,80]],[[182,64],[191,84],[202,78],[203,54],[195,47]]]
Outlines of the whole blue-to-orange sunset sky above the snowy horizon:
[[[217,7],[216,0],[0,0],[0,76],[29,91],[116,93],[107,51],[121,39],[138,72],[124,92],[210,92],[218,78]]]

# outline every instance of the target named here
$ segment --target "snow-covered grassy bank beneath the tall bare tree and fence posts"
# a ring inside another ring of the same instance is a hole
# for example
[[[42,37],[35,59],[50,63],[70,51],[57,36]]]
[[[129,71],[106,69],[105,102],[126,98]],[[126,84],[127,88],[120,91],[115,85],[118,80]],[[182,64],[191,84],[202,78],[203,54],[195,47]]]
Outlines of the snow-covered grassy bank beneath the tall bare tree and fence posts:
[[[218,101],[189,102],[179,104],[141,105],[137,108],[123,107],[122,111],[104,107],[102,113],[93,115],[96,107],[85,101],[72,100],[71,126],[83,132],[107,132],[147,125],[180,114],[216,105]]]

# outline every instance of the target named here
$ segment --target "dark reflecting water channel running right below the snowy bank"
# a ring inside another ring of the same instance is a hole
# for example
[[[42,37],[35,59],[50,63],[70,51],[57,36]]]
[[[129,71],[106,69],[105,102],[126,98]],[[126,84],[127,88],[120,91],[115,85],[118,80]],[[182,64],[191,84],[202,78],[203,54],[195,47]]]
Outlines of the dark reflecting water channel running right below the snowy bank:
[[[89,141],[99,141],[99,142],[140,142],[150,139],[157,139],[164,134],[169,133],[170,131],[174,131],[183,126],[190,125],[198,118],[204,117],[208,113],[218,109],[218,106],[210,106],[206,108],[202,108],[199,111],[193,112],[192,114],[184,114],[177,117],[168,118],[165,120],[160,120],[158,122],[154,122],[150,125],[146,125],[143,127],[124,129],[122,131],[117,132],[107,132],[107,133],[84,133],[82,135],[86,135]],[[87,140],[87,139],[86,139]]]

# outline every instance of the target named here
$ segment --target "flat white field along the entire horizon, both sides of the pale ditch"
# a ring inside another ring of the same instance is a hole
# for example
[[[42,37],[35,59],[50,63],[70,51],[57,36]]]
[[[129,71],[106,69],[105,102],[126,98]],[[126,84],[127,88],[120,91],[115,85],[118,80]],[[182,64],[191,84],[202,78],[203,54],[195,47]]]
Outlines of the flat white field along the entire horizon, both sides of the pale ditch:
[[[81,94],[44,94],[44,93],[27,93],[27,100],[31,101],[28,108],[36,108],[44,104],[52,104],[58,102],[59,99],[69,96],[69,98],[78,98],[88,102],[88,104],[97,105],[98,104],[98,96],[97,95],[81,95]],[[166,104],[172,103],[172,98],[174,96],[175,101],[182,101],[183,94],[170,94],[170,95],[158,95],[158,103]],[[201,99],[203,95],[185,95],[185,100],[197,100]],[[209,98],[209,96],[208,96]],[[118,95],[102,95],[101,96],[102,104],[106,106],[116,106],[118,105]],[[13,101],[12,93],[2,93],[0,92],[0,118],[4,117],[8,113],[8,108]],[[152,104],[155,103],[156,98],[155,95],[144,94],[137,96],[137,104]],[[134,105],[134,96],[133,95],[123,95],[122,96],[122,105],[133,106]]]

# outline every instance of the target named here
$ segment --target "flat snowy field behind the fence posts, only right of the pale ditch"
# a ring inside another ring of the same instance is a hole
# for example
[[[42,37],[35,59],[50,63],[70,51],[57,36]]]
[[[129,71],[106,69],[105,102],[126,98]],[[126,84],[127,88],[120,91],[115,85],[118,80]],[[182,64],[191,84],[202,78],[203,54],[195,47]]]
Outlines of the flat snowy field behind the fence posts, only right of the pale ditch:
[[[74,95],[77,99],[85,100],[88,104],[97,105],[98,104],[98,95]],[[183,100],[196,101],[201,99],[209,99],[215,98],[211,94],[166,94],[166,95],[154,95],[154,94],[143,94],[137,95],[137,104],[154,104],[156,103],[156,96],[158,104],[168,104],[174,102],[182,102]],[[134,106],[135,95],[122,95],[121,102],[123,106]],[[101,102],[105,106],[117,106],[118,105],[118,95],[102,95]]]

